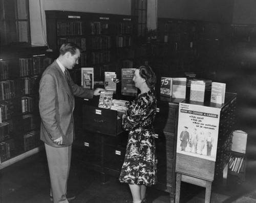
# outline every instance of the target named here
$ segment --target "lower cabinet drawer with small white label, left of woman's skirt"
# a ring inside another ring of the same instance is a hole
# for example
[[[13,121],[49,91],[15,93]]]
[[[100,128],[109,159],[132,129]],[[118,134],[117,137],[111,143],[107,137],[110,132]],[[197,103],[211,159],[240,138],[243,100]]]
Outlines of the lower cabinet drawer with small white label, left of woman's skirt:
[[[125,149],[111,145],[104,146],[104,167],[116,171],[121,171]]]

